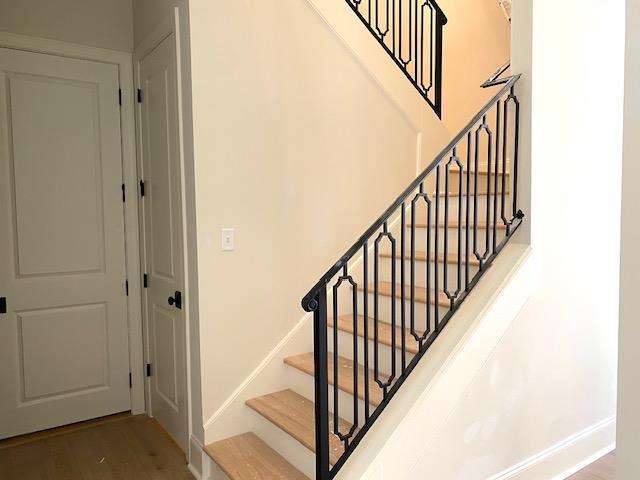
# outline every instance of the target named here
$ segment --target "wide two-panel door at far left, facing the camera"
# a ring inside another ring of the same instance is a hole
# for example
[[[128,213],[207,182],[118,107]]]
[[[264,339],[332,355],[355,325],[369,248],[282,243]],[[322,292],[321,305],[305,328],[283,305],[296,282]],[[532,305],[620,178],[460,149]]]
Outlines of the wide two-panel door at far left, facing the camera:
[[[0,48],[0,438],[130,409],[118,87]]]

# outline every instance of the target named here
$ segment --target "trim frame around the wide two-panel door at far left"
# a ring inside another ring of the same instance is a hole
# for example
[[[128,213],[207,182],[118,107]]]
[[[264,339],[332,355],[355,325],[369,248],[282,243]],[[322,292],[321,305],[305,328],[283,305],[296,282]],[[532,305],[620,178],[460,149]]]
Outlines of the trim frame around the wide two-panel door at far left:
[[[142,292],[140,272],[140,224],[138,219],[138,172],[135,136],[135,97],[132,55],[127,52],[87,47],[9,32],[0,32],[0,47],[113,64],[118,67],[122,105],[120,135],[122,145],[122,181],[124,203],[125,263],[129,280],[127,297],[129,331],[129,370],[131,372],[131,413],[146,412],[142,330]],[[117,101],[117,99],[114,99]]]

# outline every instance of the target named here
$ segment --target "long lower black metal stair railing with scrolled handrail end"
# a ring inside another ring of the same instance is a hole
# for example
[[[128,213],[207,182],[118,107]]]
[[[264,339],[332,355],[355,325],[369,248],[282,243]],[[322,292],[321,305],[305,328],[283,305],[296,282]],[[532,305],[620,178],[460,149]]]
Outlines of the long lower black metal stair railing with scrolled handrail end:
[[[499,82],[303,298],[314,314],[317,480],[335,477],[521,225],[519,78]]]

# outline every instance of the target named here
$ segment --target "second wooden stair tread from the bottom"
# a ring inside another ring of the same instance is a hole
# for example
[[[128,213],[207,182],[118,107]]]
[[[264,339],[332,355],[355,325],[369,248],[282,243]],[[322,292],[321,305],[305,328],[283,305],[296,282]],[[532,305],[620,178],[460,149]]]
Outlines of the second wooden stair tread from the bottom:
[[[312,452],[316,451],[315,404],[292,390],[270,393],[247,400],[247,405],[271,423],[295,438]],[[351,424],[340,419],[339,431],[348,433]],[[329,432],[333,432],[333,413],[329,413]],[[332,465],[344,453],[344,443],[329,434],[329,460]]]

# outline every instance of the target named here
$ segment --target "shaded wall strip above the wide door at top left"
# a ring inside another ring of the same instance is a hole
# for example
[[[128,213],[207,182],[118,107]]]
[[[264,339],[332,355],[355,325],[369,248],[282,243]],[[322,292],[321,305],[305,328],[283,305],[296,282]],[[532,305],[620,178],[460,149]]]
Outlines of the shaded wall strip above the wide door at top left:
[[[0,0],[0,31],[131,52],[132,0]]]

